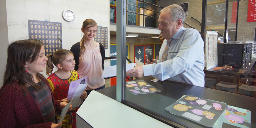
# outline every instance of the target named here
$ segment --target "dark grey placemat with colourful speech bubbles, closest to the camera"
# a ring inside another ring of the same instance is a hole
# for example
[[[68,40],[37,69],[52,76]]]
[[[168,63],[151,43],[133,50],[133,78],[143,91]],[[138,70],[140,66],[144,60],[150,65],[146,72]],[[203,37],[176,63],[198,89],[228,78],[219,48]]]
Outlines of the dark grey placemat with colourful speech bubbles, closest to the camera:
[[[198,124],[212,127],[226,110],[227,106],[223,102],[185,95],[172,105],[166,107],[165,110]]]

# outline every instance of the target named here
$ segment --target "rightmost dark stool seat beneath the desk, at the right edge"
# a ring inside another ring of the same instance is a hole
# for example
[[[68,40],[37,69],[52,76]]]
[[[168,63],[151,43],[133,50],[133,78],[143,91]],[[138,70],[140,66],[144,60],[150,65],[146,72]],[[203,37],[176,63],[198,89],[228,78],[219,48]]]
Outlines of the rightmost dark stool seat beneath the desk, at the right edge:
[[[246,96],[256,97],[256,86],[240,84],[238,87],[238,93]]]

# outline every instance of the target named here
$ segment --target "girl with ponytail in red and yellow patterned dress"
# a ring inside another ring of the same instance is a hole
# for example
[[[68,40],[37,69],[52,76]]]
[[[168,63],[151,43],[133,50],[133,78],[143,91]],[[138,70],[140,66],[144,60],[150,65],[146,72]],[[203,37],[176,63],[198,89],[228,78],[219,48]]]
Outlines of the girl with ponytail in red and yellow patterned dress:
[[[69,83],[79,79],[78,73],[74,70],[76,64],[74,55],[69,50],[60,49],[53,54],[49,54],[47,58],[46,74],[49,76],[47,80],[52,88],[54,100],[69,102],[70,100],[67,100]],[[54,73],[52,73],[53,64],[58,68]],[[86,99],[86,97],[87,93],[84,91],[80,98]],[[78,108],[74,108],[66,114],[62,128],[76,128],[76,111]],[[57,113],[57,116],[57,119],[59,119],[60,113]]]

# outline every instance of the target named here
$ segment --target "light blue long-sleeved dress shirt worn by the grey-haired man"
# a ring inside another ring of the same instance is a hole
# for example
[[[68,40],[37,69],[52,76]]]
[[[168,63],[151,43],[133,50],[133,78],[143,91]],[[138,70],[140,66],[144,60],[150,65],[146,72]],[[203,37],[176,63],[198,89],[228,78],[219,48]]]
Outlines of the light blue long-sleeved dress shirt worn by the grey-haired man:
[[[144,76],[204,87],[204,41],[199,32],[182,26],[172,38],[167,60],[161,62],[164,40],[157,64],[143,65]]]

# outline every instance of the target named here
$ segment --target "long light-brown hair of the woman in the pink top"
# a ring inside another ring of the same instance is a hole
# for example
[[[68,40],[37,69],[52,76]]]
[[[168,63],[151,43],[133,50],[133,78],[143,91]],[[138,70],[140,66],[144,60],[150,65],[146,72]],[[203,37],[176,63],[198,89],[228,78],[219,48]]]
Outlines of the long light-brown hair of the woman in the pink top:
[[[86,29],[86,28],[91,28],[91,27],[94,27],[94,26],[97,26],[97,28],[98,28],[98,25],[94,20],[86,19],[83,22],[82,28]],[[84,51],[85,51],[85,47],[84,47],[84,36],[83,36],[83,38],[81,39],[81,47],[80,47],[80,57],[81,57],[82,60],[83,60]]]

